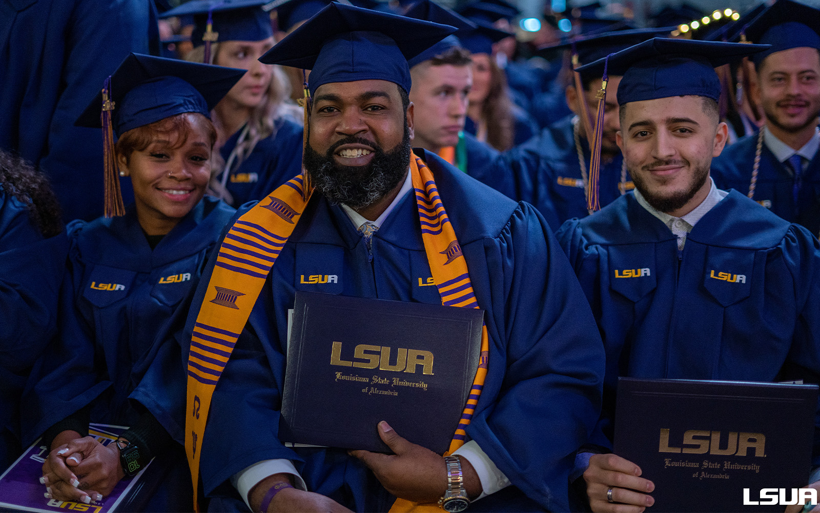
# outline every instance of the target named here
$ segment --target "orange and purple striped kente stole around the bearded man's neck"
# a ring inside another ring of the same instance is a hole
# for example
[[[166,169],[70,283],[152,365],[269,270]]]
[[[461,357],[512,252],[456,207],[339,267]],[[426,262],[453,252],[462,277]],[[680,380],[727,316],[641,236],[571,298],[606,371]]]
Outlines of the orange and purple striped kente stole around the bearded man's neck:
[[[433,174],[415,155],[410,159],[410,172],[421,223],[421,239],[442,305],[478,308],[467,274],[467,262],[441,203]],[[269,204],[260,202],[235,222],[217,254],[206,297],[194,324],[188,359],[185,452],[194,483],[195,505],[199,483],[198,449],[202,447],[216,382],[248,322],[268,273],[301,218],[312,190],[307,193],[303,194],[302,176],[296,176],[280,186],[266,198],[270,200]],[[487,327],[484,326],[481,330],[479,367],[447,454],[465,442],[465,429],[470,424],[487,374],[489,350]],[[410,511],[413,506],[417,505],[399,499],[391,511]],[[433,506],[435,511],[440,511],[437,505],[427,507],[433,511]]]

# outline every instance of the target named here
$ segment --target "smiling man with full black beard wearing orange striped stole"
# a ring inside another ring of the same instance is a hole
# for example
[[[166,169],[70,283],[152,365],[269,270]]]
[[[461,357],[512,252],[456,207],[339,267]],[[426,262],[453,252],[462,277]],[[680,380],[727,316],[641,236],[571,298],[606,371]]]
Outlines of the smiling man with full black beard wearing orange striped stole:
[[[471,510],[568,509],[574,452],[599,415],[603,348],[543,218],[410,149],[406,58],[452,31],[333,3],[262,57],[312,69],[308,171],[238,213],[189,317],[185,442],[211,509],[387,511],[422,502],[438,510],[450,489],[444,458],[385,423],[378,433],[390,456],[280,442],[295,291],[433,305],[447,297],[485,309],[488,370],[454,452]],[[428,259],[442,233],[457,240]],[[437,277],[461,266],[450,286]],[[337,280],[299,279],[312,274]],[[431,275],[436,286],[418,286]],[[246,319],[238,327],[222,322],[237,310]]]

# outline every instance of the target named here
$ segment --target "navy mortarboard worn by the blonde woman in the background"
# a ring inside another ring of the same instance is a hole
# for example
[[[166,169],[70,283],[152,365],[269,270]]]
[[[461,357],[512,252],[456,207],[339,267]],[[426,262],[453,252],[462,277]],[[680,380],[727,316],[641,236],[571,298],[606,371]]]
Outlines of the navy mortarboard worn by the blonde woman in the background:
[[[273,35],[271,16],[262,5],[271,0],[191,0],[163,12],[161,18],[194,16],[194,47],[203,44],[207,36],[208,17],[212,18],[212,32],[216,41],[261,41]]]

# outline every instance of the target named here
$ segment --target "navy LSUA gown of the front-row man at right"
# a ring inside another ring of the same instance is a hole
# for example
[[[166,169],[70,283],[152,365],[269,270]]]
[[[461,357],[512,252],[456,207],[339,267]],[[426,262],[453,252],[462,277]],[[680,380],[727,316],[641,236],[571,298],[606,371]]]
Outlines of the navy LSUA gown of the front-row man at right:
[[[695,225],[681,259],[676,236],[632,194],[557,236],[604,338],[599,445],[611,447],[618,376],[818,382],[820,245],[804,227],[733,190]],[[629,269],[638,277],[615,274]]]

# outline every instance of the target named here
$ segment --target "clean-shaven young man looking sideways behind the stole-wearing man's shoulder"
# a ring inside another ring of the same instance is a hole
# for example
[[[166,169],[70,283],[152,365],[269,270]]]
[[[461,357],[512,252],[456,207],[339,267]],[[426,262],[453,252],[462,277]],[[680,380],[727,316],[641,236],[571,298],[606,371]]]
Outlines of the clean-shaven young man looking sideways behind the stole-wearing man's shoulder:
[[[476,26],[428,0],[417,2],[404,16],[450,25],[459,31]],[[408,60],[415,84],[410,90],[413,147],[437,154],[462,172],[513,198],[512,175],[500,161],[499,152],[464,131],[472,87],[472,60],[457,36],[458,32],[449,35]]]

